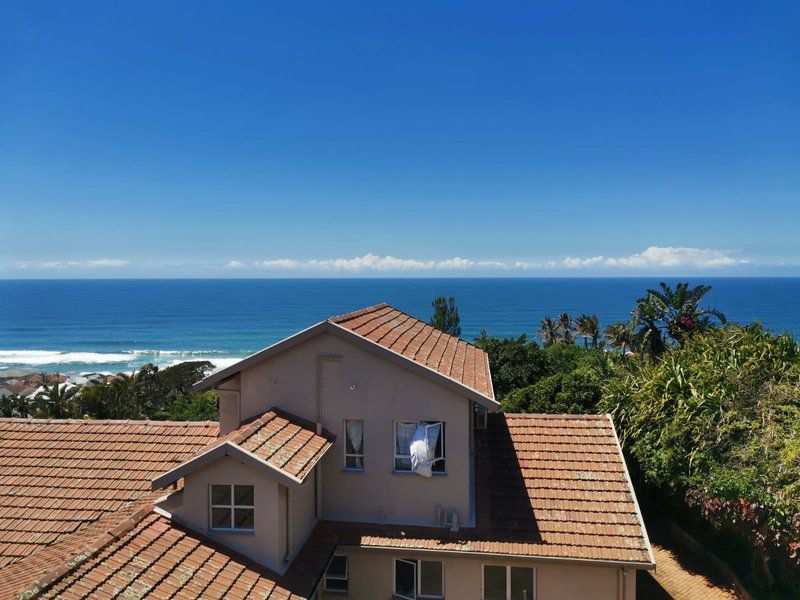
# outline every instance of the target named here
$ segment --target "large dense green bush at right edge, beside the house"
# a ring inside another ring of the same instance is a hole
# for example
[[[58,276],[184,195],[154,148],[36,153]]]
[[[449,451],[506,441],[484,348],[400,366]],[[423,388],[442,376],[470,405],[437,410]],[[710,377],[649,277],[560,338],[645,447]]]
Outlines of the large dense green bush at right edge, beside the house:
[[[652,484],[718,527],[797,558],[800,347],[759,326],[692,335],[608,380],[600,410]],[[766,565],[766,561],[764,565]],[[764,579],[771,575],[765,567]]]

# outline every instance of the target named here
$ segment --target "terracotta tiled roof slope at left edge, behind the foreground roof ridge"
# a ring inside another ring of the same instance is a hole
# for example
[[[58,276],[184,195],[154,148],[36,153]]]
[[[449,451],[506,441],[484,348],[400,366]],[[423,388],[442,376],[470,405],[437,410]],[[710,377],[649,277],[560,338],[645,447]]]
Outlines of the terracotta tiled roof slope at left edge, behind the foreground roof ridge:
[[[217,423],[0,419],[0,568],[149,492]]]

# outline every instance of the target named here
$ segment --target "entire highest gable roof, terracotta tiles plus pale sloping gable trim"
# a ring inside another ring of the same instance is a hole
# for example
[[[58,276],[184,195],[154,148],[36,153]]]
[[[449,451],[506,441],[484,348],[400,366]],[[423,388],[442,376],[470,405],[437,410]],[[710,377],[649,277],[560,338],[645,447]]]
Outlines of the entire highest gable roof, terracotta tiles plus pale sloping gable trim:
[[[494,397],[486,352],[385,303],[330,317],[212,373],[193,389],[211,388],[251,365],[325,332],[397,362],[487,408],[500,406]]]

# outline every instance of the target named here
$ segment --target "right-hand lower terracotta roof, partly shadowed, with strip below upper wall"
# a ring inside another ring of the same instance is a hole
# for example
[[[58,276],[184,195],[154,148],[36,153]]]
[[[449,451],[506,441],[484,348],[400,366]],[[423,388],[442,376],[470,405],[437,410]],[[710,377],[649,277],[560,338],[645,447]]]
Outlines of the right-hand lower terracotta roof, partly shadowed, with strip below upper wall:
[[[331,524],[340,541],[652,566],[607,416],[497,413],[477,433],[476,528]]]

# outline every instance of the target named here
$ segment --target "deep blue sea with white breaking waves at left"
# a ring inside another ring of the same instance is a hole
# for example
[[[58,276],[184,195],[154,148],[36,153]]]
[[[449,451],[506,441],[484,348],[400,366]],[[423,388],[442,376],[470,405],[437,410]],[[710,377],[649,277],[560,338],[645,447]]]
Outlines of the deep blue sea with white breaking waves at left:
[[[625,320],[659,279],[258,279],[0,281],[0,369],[129,371],[230,364],[328,316],[389,302],[427,319],[454,296],[462,336],[535,334],[545,316]],[[675,283],[676,280],[667,280]],[[690,280],[691,281],[691,280]],[[731,321],[800,334],[800,278],[702,278]]]

